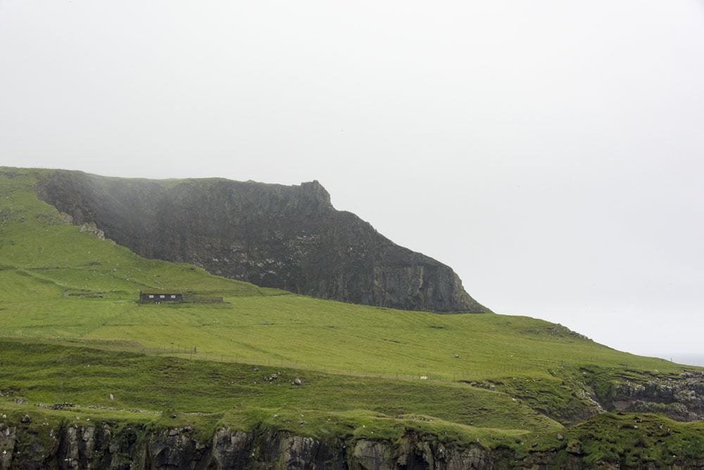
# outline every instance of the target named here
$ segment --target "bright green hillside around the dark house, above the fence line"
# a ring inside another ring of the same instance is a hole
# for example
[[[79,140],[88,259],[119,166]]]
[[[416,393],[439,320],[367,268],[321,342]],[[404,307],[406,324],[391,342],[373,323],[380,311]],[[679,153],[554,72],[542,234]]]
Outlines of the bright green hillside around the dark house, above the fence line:
[[[39,201],[32,185],[40,174],[0,172],[5,335],[122,340],[168,350],[175,343],[210,357],[375,374],[545,375],[554,367],[590,362],[679,371],[546,321],[328,302],[210,276],[191,265],[142,259],[81,233]],[[150,288],[222,295],[227,303],[135,304],[139,290]]]

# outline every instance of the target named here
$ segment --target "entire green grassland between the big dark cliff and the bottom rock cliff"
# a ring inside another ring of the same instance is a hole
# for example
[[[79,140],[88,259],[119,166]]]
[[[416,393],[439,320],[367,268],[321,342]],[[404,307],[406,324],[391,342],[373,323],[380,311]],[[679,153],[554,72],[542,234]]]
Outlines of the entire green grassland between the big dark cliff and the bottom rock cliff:
[[[156,413],[137,414],[142,421],[177,409],[203,429],[268,423],[382,438],[411,426],[518,445],[593,407],[585,367],[607,380],[682,370],[537,319],[344,304],[142,259],[39,200],[42,172],[0,168],[0,392],[8,396],[73,402],[86,416]],[[135,302],[152,289],[225,303]],[[263,381],[274,372],[279,378]],[[296,377],[300,387],[291,385]]]

